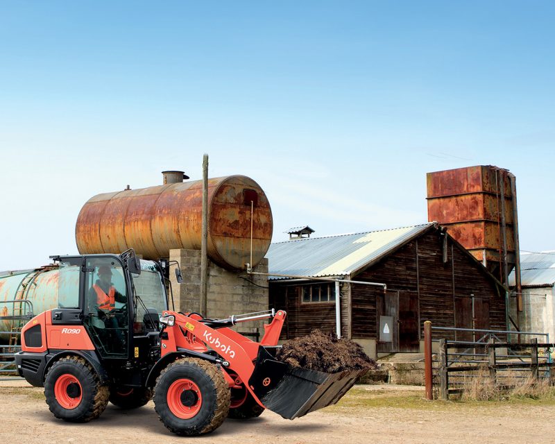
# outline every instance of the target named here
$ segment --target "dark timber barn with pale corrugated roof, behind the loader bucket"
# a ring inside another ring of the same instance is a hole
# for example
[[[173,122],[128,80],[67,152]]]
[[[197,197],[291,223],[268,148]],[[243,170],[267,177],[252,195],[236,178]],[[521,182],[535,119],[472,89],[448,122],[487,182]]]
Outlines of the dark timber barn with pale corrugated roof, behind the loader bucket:
[[[267,257],[269,273],[275,273],[270,307],[287,311],[282,339],[314,328],[335,332],[337,316],[341,335],[377,357],[422,352],[424,321],[506,330],[504,287],[437,223],[293,238],[272,244]],[[338,285],[331,279],[355,282]],[[472,338],[468,332],[441,336]]]

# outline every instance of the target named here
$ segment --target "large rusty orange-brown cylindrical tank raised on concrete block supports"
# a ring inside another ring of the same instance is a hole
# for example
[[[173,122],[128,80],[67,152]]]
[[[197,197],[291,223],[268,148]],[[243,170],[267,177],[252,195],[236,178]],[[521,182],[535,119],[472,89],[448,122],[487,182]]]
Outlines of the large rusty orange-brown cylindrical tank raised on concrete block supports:
[[[76,223],[81,254],[120,253],[144,259],[169,257],[173,248],[200,250],[201,180],[123,190],[90,198]],[[208,256],[228,269],[250,262],[253,203],[253,266],[266,255],[273,221],[266,194],[246,176],[208,180]]]

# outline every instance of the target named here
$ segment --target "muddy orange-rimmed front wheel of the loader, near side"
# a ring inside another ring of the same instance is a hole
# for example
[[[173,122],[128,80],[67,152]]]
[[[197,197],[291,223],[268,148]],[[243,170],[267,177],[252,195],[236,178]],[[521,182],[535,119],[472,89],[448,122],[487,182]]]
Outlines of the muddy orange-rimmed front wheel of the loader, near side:
[[[196,358],[178,359],[160,373],[154,406],[171,432],[206,434],[220,427],[228,416],[230,389],[214,364]]]

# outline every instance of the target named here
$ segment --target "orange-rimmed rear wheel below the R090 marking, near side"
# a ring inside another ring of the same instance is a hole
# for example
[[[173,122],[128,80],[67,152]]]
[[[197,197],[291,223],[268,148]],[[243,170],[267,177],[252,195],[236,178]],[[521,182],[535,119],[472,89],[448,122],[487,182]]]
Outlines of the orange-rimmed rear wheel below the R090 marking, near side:
[[[52,364],[44,380],[46,404],[56,418],[87,422],[98,418],[108,404],[108,386],[85,359],[65,357]]]

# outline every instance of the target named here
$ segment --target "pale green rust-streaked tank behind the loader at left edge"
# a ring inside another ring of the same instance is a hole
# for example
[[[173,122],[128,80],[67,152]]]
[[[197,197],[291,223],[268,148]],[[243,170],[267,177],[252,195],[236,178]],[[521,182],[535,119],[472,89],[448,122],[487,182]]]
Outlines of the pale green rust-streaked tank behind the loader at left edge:
[[[12,327],[17,327],[20,323],[17,319],[2,319],[3,317],[26,315],[31,310],[34,314],[39,314],[58,307],[59,275],[57,266],[44,266],[0,276],[0,332],[3,332],[0,333],[0,343],[7,343]],[[65,275],[62,286],[70,285],[71,279],[78,282],[78,273]],[[63,289],[61,293],[64,294]],[[11,300],[28,300],[31,305],[24,302],[6,302]]]

